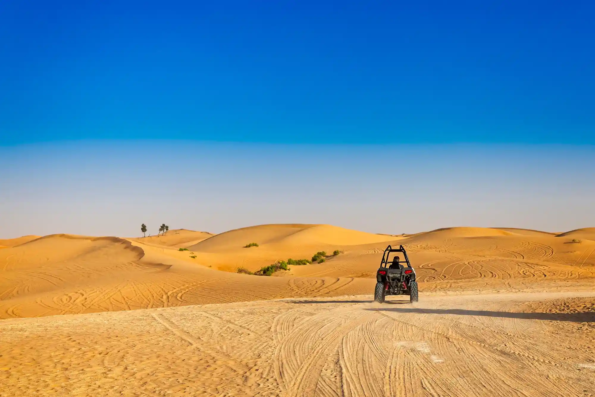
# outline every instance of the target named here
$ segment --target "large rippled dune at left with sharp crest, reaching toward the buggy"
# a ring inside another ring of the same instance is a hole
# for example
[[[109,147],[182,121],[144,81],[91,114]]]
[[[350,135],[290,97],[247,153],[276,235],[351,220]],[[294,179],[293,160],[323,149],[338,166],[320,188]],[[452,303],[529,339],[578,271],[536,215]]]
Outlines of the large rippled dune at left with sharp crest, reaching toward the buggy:
[[[349,294],[372,282],[220,272],[187,251],[73,235],[1,250],[0,270],[0,318]]]

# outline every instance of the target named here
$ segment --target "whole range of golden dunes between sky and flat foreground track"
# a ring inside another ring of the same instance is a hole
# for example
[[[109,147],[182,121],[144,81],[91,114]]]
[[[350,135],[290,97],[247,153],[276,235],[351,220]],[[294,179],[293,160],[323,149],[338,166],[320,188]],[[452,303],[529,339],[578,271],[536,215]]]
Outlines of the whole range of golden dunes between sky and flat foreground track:
[[[595,278],[594,241],[547,233],[447,228],[403,238],[328,225],[261,225],[179,251],[205,234],[172,232],[155,239],[50,235],[4,248],[0,318],[368,294],[389,243],[408,249],[422,293],[588,288]],[[243,248],[249,242],[259,247]],[[333,256],[334,250],[342,253]],[[273,277],[235,273],[317,251],[327,252],[324,263]]]

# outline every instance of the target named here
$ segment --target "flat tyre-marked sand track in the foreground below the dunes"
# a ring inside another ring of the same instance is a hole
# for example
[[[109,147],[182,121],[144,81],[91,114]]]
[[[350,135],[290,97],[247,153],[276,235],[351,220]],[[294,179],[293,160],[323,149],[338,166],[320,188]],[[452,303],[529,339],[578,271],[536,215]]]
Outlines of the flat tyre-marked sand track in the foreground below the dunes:
[[[595,292],[369,295],[0,322],[0,396],[590,396]]]

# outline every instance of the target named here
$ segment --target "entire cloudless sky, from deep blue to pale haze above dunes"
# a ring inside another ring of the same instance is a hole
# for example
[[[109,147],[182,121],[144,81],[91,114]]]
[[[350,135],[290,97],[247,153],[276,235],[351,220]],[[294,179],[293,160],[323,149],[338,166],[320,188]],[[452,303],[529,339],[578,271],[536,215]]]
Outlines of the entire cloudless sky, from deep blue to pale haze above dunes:
[[[595,225],[595,2],[0,2],[0,238]]]

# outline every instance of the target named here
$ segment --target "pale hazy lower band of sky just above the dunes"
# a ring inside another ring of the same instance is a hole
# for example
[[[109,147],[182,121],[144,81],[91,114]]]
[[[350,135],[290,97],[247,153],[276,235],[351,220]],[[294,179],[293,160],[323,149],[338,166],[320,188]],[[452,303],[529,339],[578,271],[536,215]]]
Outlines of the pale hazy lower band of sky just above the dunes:
[[[0,147],[0,238],[328,223],[595,226],[595,147],[70,141]]]

